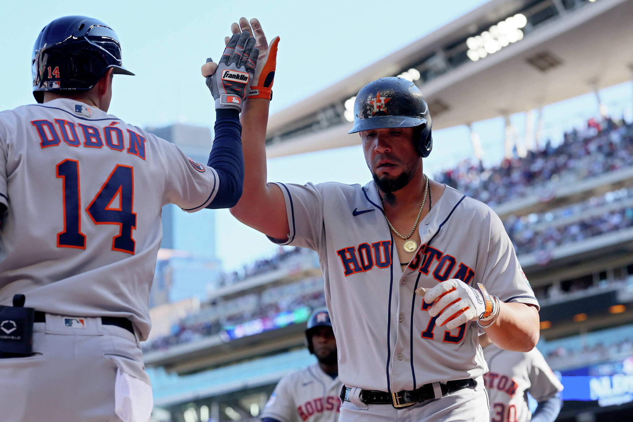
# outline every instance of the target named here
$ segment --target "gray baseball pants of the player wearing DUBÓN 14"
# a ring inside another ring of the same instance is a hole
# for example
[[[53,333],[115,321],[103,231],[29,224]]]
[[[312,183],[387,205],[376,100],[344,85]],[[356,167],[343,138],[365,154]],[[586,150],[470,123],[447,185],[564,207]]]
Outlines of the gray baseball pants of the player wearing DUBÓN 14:
[[[147,422],[151,387],[135,335],[73,318],[47,314],[34,324],[34,356],[0,359],[0,419]]]

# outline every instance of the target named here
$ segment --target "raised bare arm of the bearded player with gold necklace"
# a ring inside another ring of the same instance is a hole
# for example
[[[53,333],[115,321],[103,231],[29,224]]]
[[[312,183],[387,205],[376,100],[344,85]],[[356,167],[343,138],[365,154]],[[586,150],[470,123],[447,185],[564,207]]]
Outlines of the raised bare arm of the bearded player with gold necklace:
[[[285,239],[288,228],[283,195],[277,185],[266,185],[266,126],[269,106],[270,101],[266,99],[249,99],[244,104],[241,115],[244,190],[240,201],[230,211],[237,220],[249,227],[275,239]],[[275,219],[279,221],[272,221]]]

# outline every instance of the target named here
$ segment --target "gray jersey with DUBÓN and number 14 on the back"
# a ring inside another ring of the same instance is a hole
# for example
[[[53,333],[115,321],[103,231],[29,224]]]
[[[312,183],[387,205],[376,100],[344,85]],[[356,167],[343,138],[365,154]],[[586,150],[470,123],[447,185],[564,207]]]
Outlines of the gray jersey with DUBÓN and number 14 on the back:
[[[147,338],[161,207],[193,212],[215,170],[71,99],[0,113],[0,304],[129,318]]]

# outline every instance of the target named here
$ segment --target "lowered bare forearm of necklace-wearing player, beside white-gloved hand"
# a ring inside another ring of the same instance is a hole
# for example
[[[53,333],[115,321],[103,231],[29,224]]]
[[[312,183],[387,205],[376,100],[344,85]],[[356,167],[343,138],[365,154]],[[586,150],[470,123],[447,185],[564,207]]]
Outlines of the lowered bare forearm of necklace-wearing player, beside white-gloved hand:
[[[501,349],[529,352],[539,341],[539,313],[534,306],[501,302],[499,318],[484,330]]]

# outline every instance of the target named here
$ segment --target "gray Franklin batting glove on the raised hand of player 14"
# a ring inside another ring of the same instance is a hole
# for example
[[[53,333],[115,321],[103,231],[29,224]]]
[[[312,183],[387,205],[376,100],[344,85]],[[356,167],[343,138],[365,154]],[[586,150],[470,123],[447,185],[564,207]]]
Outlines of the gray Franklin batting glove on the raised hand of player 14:
[[[246,31],[234,34],[224,49],[218,70],[206,77],[206,86],[215,99],[215,109],[233,108],[242,111],[242,102],[250,91],[259,49],[254,37]],[[206,59],[207,63],[212,61]]]

